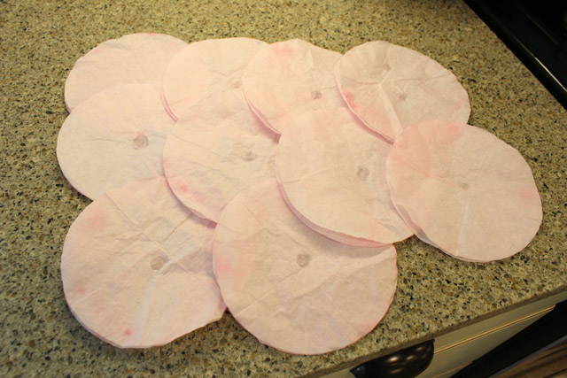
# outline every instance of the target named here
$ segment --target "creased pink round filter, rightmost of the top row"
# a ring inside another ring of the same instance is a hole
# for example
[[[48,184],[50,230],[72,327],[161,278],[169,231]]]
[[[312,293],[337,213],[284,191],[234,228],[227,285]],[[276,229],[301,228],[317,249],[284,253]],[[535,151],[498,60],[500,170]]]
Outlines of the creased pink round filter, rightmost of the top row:
[[[354,114],[390,141],[421,120],[469,120],[469,95],[451,71],[389,42],[367,42],[346,52],[337,82]]]

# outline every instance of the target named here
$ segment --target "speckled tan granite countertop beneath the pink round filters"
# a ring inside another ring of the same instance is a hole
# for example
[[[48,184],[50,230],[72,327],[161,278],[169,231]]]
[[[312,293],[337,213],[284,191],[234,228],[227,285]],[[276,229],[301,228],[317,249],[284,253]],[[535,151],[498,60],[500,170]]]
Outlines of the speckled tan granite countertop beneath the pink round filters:
[[[298,376],[325,374],[567,289],[567,113],[461,2],[187,0],[0,2],[0,375]],[[66,306],[59,263],[89,200],[55,155],[66,76],[99,42],[134,32],[186,42],[302,38],[345,52],[386,40],[450,68],[468,90],[470,124],[511,144],[540,189],[544,220],[524,251],[489,264],[450,258],[415,237],[397,245],[399,282],[384,320],[358,343],[295,356],[222,320],[148,350],[92,336]]]

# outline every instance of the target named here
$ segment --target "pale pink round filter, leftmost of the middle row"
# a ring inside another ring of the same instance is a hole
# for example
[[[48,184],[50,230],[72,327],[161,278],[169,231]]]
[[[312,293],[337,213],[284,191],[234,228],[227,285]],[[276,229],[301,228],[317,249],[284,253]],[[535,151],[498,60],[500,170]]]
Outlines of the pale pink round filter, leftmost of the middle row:
[[[91,199],[130,180],[163,176],[161,152],[174,124],[159,83],[114,85],[67,117],[57,141],[59,166]]]

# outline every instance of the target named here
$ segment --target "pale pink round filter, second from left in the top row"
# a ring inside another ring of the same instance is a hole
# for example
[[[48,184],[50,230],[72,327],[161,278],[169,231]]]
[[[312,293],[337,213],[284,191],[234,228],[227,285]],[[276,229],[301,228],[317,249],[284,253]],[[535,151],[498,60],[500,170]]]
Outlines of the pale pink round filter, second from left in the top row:
[[[268,43],[252,38],[209,39],[193,42],[171,60],[163,78],[168,111],[175,119],[207,97],[242,90],[242,76],[250,59]]]

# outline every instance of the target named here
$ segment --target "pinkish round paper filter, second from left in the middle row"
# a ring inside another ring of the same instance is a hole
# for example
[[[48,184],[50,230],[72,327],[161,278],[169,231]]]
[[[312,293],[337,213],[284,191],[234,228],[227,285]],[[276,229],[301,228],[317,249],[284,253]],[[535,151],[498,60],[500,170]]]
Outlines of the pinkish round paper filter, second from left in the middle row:
[[[163,150],[169,185],[214,220],[241,190],[276,176],[277,135],[250,112],[242,90],[219,92],[179,120]]]

